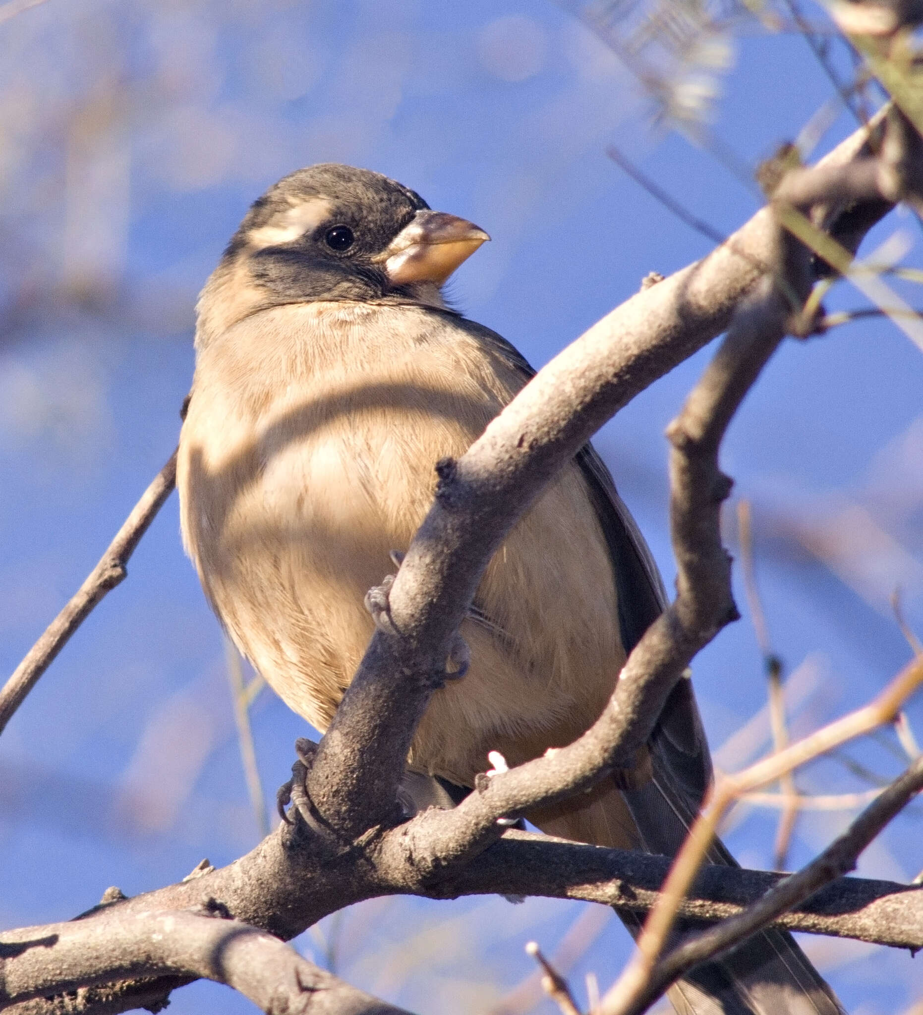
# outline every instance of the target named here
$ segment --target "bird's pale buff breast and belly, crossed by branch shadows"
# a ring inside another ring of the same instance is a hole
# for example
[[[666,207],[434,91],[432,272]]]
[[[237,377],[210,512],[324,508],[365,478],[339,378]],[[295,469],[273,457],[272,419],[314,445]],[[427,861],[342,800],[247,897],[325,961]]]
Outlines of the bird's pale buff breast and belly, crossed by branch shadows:
[[[522,384],[469,345],[367,357],[358,376],[315,357],[299,377],[289,356],[281,394],[200,361],[179,463],[184,539],[238,648],[321,731],[372,635],[365,594],[428,510],[435,462],[464,454]],[[468,785],[488,750],[516,763],[573,740],[623,662],[605,542],[576,466],[510,534],[476,602],[498,629],[465,621],[470,670],[435,694],[411,754]]]

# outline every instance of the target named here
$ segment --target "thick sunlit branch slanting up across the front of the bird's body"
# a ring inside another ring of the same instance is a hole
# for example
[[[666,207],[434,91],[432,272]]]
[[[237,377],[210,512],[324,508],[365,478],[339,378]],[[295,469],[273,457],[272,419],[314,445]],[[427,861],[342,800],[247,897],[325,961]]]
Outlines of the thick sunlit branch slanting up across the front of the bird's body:
[[[866,137],[859,132],[844,142],[823,160],[825,172],[864,158]],[[394,822],[416,725],[445,679],[451,640],[483,568],[510,528],[611,415],[727,327],[760,266],[777,263],[777,250],[778,225],[764,209],[704,261],[643,289],[594,325],[537,374],[458,462],[441,463],[436,502],[391,587],[386,622],[308,774],[321,822],[347,840],[370,824]],[[649,705],[669,691],[657,681],[653,686]]]

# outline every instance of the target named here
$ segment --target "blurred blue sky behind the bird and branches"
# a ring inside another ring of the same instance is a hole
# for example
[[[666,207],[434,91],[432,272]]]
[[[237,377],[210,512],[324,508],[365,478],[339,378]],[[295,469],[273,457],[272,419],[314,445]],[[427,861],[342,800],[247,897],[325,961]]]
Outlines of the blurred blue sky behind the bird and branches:
[[[649,271],[668,273],[710,248],[607,158],[607,144],[721,230],[759,206],[753,188],[708,151],[651,125],[613,54],[569,10],[540,0],[48,0],[0,21],[0,41],[7,672],[173,450],[196,292],[249,202],[278,177],[348,161],[487,229],[492,242],[460,269],[452,296],[536,365]],[[754,164],[797,136],[832,88],[797,37],[750,28],[729,46],[733,65],[714,75],[723,97],[713,129]],[[822,146],[851,129],[839,116]],[[909,247],[904,263],[920,266],[919,225],[900,214],[865,249],[895,233],[893,244]],[[828,301],[862,303],[846,285]],[[641,395],[597,438],[668,585],[662,434],[709,354]],[[862,703],[907,661],[887,602],[896,586],[923,629],[921,391],[921,350],[886,322],[863,321],[786,343],[731,427],[724,466],[735,495],[753,502],[773,642],[797,670],[795,732]],[[0,737],[4,926],[66,919],[111,884],[133,894],[256,842],[221,635],[183,555],[175,497],[129,576]],[[715,748],[765,702],[739,593],[744,619],[694,668]],[[923,708],[909,715],[923,736]],[[268,691],[253,725],[271,796],[305,727]],[[896,743],[849,753],[891,775],[901,767]],[[799,786],[868,788],[827,760]],[[916,875],[918,811],[868,851],[860,873]],[[805,862],[848,817],[804,815],[789,863]],[[742,862],[771,865],[774,820],[751,809],[733,824],[727,838]],[[605,986],[629,946],[600,911],[537,899],[389,900],[328,921],[323,933],[352,982],[417,1010],[460,1012],[486,1010],[529,973],[525,941],[553,952],[569,928],[569,940],[593,942],[574,966],[578,991],[588,970]],[[899,1012],[919,997],[906,954],[807,945],[850,1011]],[[300,946],[320,958],[318,939]],[[213,985],[178,993],[173,1010],[218,1007],[253,1010]]]

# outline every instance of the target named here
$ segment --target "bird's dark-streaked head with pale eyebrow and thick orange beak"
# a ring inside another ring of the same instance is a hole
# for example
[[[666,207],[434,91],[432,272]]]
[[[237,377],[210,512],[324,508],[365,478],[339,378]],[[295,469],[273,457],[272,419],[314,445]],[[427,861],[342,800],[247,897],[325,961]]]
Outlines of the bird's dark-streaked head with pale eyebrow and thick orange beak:
[[[317,300],[442,306],[439,290],[484,241],[381,174],[323,163],[258,198],[199,300],[199,332]]]

